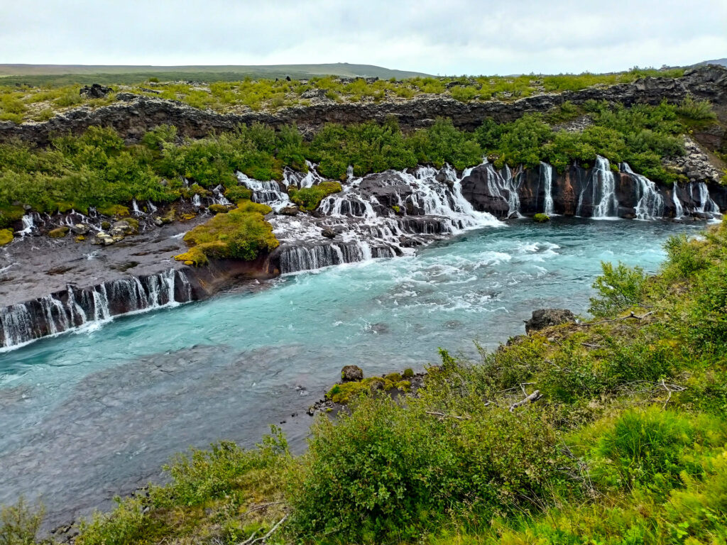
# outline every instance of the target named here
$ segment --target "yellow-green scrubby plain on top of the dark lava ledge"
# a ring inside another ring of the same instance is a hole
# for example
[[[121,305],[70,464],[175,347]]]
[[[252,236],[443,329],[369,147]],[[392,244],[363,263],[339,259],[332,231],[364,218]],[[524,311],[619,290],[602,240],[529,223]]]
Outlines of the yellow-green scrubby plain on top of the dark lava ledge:
[[[558,76],[462,76],[417,77],[403,80],[377,78],[337,78],[318,76],[310,79],[252,79],[242,81],[151,81],[139,78],[134,84],[113,85],[103,98],[81,95],[80,84],[54,84],[63,78],[41,76],[4,78],[12,84],[0,85],[0,121],[46,121],[55,113],[79,105],[98,108],[116,100],[116,93],[126,92],[146,97],[178,100],[193,108],[211,108],[219,113],[249,110],[278,110],[296,105],[310,105],[315,100],[365,102],[405,100],[421,94],[443,94],[455,100],[516,100],[538,93],[578,91],[594,85],[630,83],[638,78],[683,76],[682,68],[654,70],[632,68],[611,74],[561,74]],[[167,76],[169,77],[169,76]],[[72,78],[72,76],[71,76]],[[157,79],[157,78],[153,78]],[[27,84],[25,81],[39,81]]]

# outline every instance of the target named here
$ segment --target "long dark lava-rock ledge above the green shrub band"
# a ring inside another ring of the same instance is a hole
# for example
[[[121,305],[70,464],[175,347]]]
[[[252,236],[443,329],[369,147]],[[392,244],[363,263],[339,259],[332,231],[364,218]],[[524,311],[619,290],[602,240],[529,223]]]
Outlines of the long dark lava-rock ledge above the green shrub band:
[[[126,139],[136,140],[154,126],[172,124],[188,137],[203,137],[213,130],[234,129],[239,124],[260,122],[270,126],[295,124],[312,134],[326,123],[360,123],[398,119],[405,130],[429,126],[438,117],[451,118],[460,129],[473,130],[484,118],[513,121],[524,113],[545,112],[563,102],[582,104],[587,100],[608,100],[624,105],[659,104],[683,100],[687,94],[712,100],[718,115],[727,119],[727,68],[702,66],[682,78],[643,78],[631,84],[596,86],[575,92],[538,94],[514,102],[459,102],[441,95],[420,95],[397,102],[318,102],[310,106],[285,108],[275,113],[220,114],[198,110],[181,102],[119,93],[119,102],[103,108],[76,108],[41,123],[0,123],[0,141],[20,138],[45,145],[53,134],[80,133],[92,125],[113,126]]]

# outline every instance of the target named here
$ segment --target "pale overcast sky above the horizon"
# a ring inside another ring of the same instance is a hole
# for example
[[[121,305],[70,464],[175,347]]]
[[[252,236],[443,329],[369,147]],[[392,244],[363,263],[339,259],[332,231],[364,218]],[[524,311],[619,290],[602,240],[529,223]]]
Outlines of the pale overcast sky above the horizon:
[[[560,73],[727,57],[727,0],[0,0],[0,63]]]

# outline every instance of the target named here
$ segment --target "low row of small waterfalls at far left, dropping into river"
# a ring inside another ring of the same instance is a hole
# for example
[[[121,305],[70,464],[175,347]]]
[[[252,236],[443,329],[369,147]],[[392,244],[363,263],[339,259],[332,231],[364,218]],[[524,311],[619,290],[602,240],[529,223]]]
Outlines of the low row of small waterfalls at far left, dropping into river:
[[[142,278],[109,280],[91,288],[68,286],[65,294],[0,308],[0,350],[47,335],[100,324],[113,316],[176,307],[193,299],[182,270],[169,269]]]

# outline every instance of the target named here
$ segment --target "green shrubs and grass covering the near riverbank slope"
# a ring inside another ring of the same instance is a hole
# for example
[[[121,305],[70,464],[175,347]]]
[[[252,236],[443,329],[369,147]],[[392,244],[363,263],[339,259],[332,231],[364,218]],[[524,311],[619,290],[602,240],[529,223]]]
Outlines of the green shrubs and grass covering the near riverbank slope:
[[[591,320],[319,415],[302,456],[274,428],[177,456],[76,543],[723,543],[727,225],[665,249],[654,277],[604,265]]]

